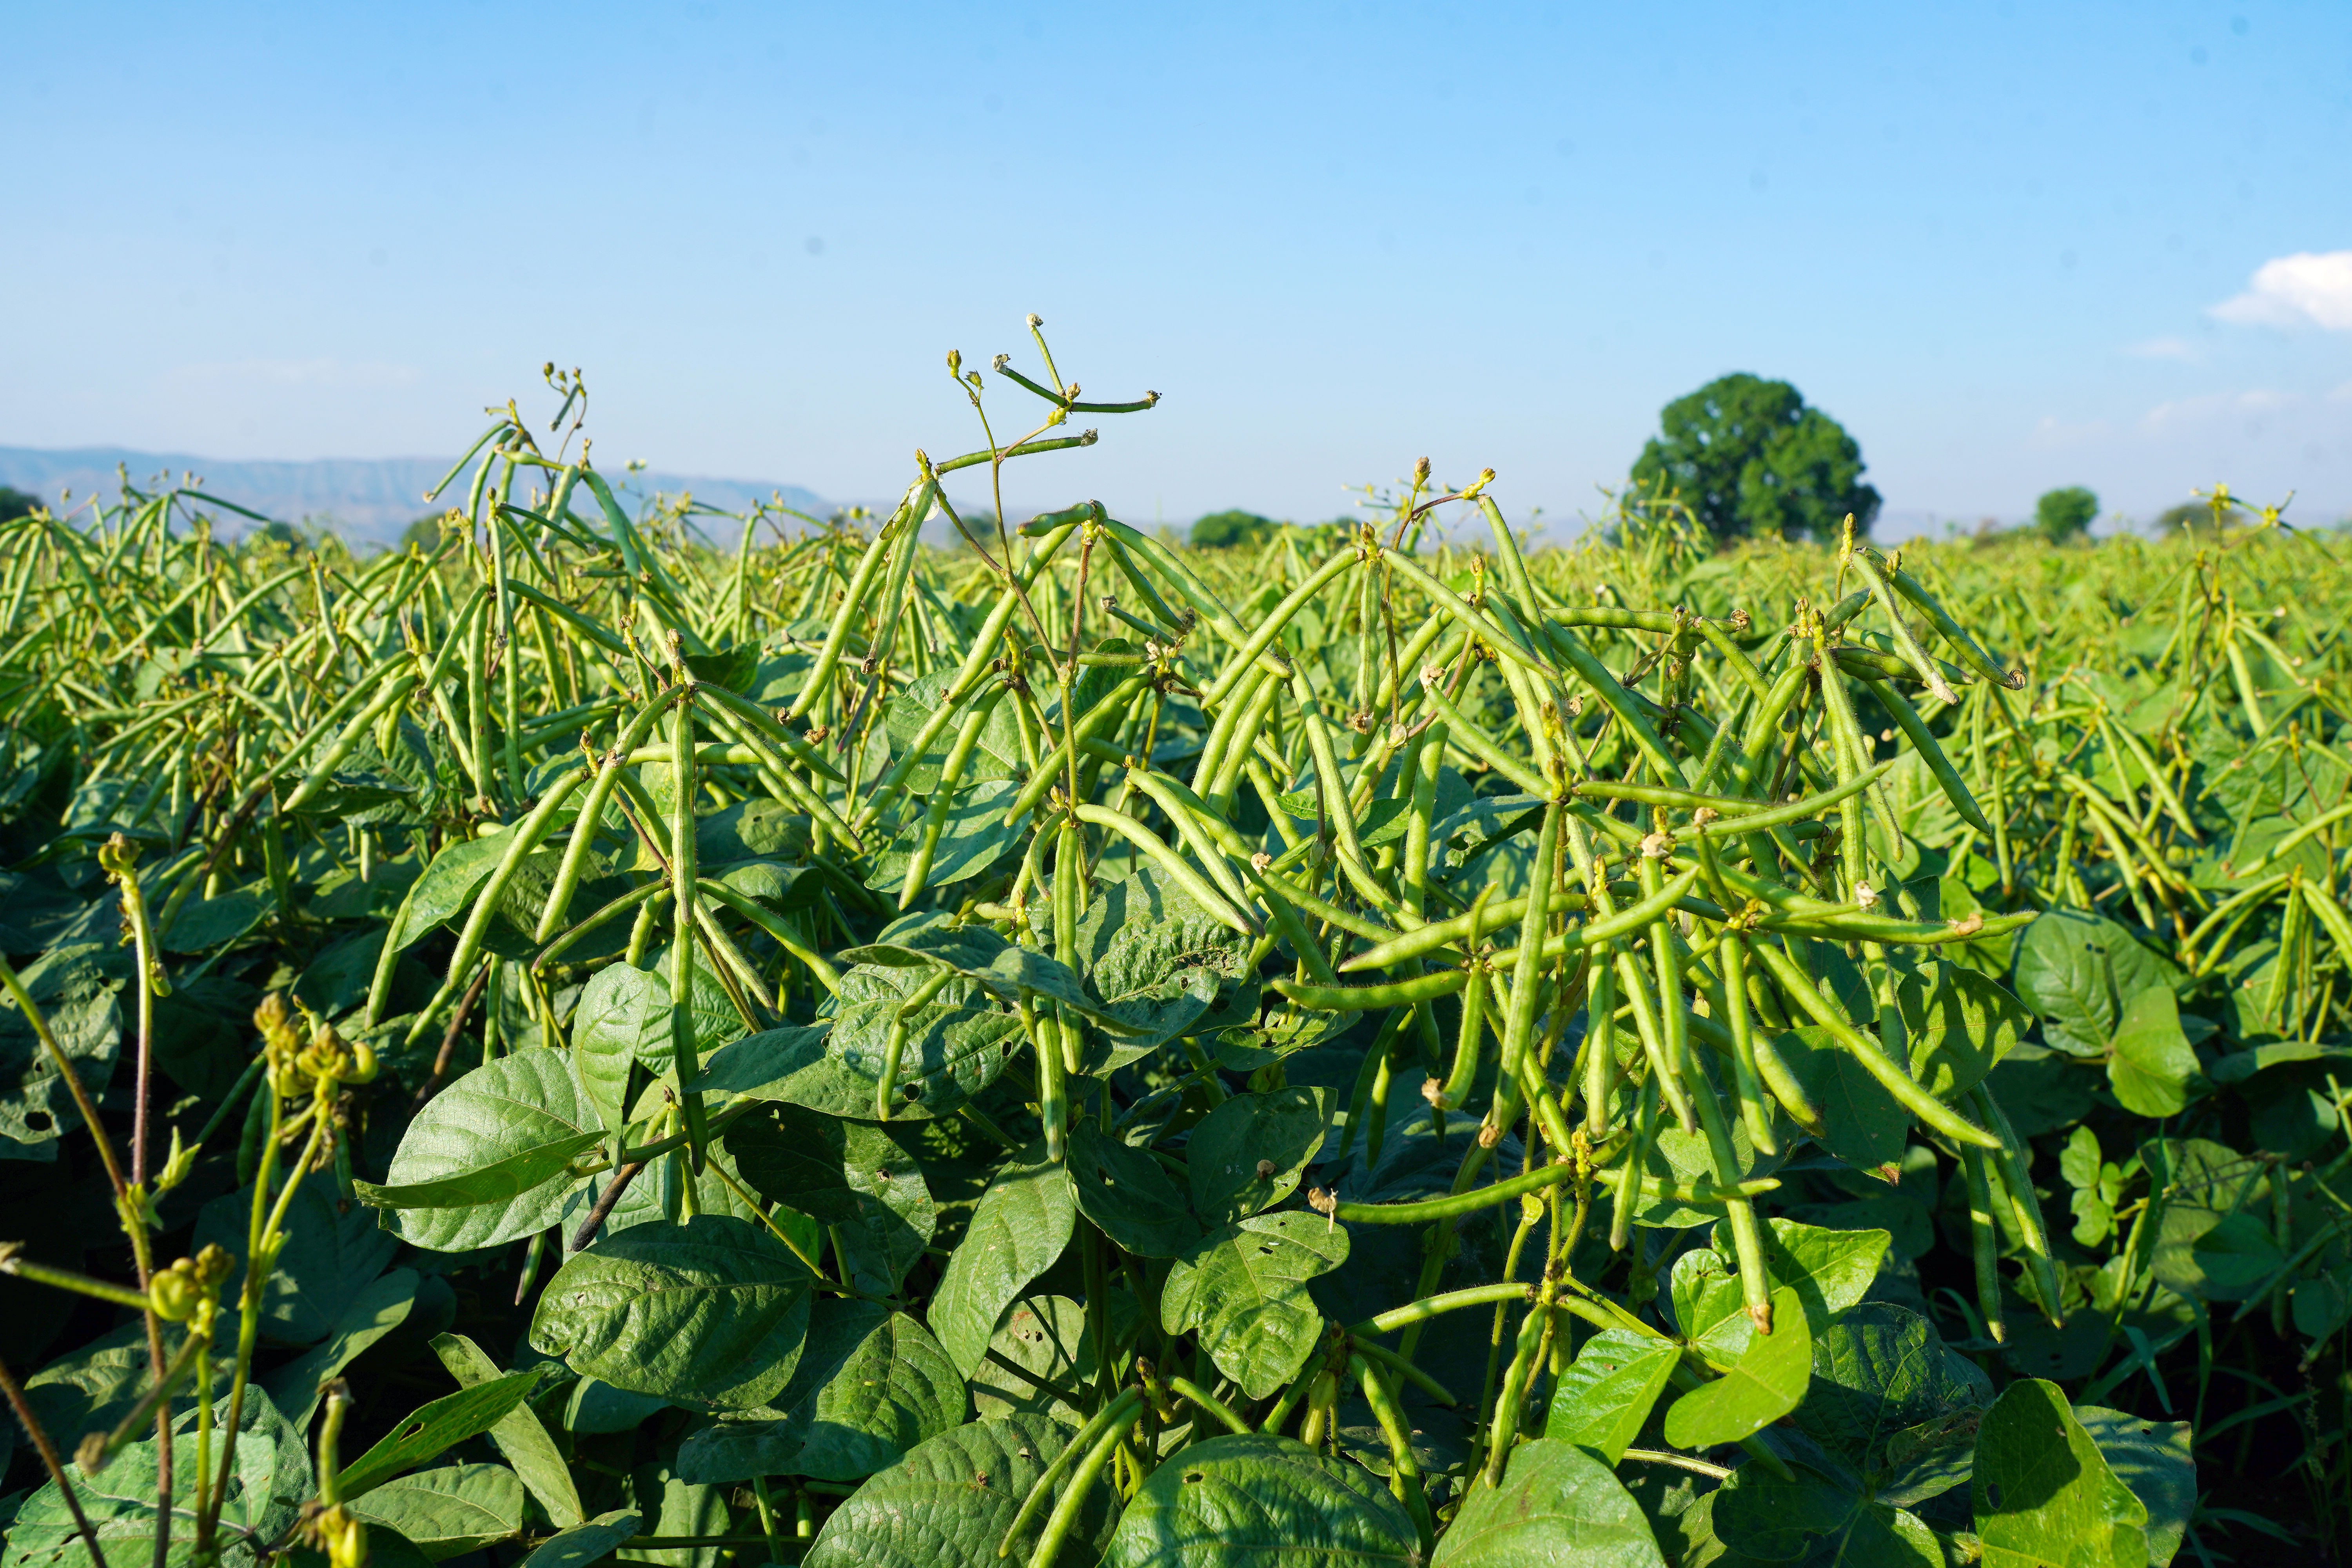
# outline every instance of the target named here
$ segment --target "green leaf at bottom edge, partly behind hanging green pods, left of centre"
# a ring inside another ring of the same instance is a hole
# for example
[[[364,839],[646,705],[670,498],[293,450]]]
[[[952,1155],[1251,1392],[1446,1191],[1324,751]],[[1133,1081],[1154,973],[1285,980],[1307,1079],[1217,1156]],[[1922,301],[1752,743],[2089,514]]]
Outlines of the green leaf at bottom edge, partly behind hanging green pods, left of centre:
[[[826,1519],[807,1568],[1000,1568],[997,1542],[1070,1429],[1044,1415],[978,1420],[920,1443],[875,1474]],[[1054,1483],[1061,1497],[1068,1472]],[[1112,1488],[1098,1486],[1077,1514],[1063,1563],[1094,1561],[1110,1535]],[[1047,1514],[1014,1540],[1014,1563],[1028,1561]]]

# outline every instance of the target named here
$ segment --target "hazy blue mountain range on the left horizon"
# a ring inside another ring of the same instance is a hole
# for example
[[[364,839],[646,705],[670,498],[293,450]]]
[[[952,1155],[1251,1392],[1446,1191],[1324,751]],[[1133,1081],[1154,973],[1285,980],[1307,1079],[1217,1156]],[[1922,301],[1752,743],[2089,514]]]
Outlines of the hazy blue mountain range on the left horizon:
[[[155,475],[179,480],[183,473],[198,475],[202,489],[221,501],[275,517],[280,522],[310,522],[332,527],[350,541],[390,543],[400,529],[433,512],[423,494],[433,487],[454,458],[315,458],[308,463],[228,463],[195,458],[179,451],[132,451],[127,447],[0,447],[0,484],[28,491],[56,505],[66,491],[80,496],[111,496],[129,473],[134,484],[146,487]],[[614,489],[637,494],[691,491],[696,501],[708,501],[722,510],[750,510],[755,501],[783,496],[783,503],[823,517],[833,510],[828,501],[800,484],[764,484],[757,480],[713,480],[673,473],[612,473]],[[626,484],[623,484],[626,482]],[[442,491],[442,503],[466,501],[466,475]],[[454,491],[454,494],[452,494]],[[586,501],[586,496],[583,496]],[[223,529],[240,524],[235,512],[221,512]],[[242,531],[242,529],[238,529]]]

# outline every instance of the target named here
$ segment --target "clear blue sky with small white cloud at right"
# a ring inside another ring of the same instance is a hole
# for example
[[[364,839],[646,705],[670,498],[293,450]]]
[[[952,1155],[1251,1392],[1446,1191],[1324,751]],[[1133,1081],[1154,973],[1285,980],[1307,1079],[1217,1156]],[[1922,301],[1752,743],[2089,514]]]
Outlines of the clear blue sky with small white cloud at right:
[[[1016,477],[1171,522],[1501,473],[1731,369],[1898,520],[2352,512],[2352,5],[16,7],[0,444],[894,494],[941,355],[1164,395]],[[2260,282],[2258,282],[2260,280]],[[1007,423],[1030,411],[990,388]],[[1051,468],[1047,468],[1051,463]]]

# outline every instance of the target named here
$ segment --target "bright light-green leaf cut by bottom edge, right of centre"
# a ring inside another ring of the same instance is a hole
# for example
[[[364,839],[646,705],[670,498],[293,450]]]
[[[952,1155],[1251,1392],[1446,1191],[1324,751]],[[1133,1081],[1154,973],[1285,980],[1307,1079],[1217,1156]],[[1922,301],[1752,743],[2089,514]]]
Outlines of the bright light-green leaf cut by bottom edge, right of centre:
[[[1665,1568],[1665,1556],[1609,1465],[1545,1439],[1510,1455],[1501,1486],[1470,1493],[1432,1559],[1432,1568],[1522,1563]]]

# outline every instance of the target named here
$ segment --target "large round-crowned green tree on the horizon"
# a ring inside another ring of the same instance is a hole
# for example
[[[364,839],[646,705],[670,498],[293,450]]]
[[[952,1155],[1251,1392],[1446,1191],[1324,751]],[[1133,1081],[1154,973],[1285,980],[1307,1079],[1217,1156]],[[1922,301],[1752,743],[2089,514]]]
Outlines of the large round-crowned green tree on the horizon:
[[[1722,376],[1665,404],[1632,482],[1679,491],[1717,538],[1778,534],[1837,538],[1846,512],[1870,531],[1879,491],[1863,484],[1863,449],[1806,407],[1788,381]]]

